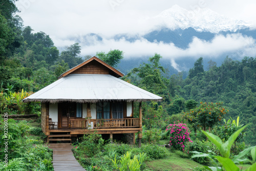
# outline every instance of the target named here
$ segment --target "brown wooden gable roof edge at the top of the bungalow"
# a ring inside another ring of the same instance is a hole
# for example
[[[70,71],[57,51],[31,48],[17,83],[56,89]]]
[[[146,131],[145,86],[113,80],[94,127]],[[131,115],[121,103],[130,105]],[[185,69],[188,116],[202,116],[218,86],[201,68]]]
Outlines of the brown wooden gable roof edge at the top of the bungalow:
[[[65,73],[62,73],[58,79],[62,78],[62,77],[65,77],[73,72],[75,72],[76,70],[79,70],[80,68],[82,67],[86,67],[86,65],[88,65],[90,62],[93,62],[93,61],[97,61],[97,63],[99,65],[102,65],[102,67],[106,70],[109,70],[109,74],[119,78],[119,77],[122,77],[124,76],[123,73],[121,73],[120,71],[116,70],[115,68],[111,67],[110,65],[108,65],[108,63],[104,62],[103,60],[99,59],[98,57],[96,56],[93,56],[91,58],[89,58],[88,60],[80,63],[79,65],[77,65],[76,67],[66,71]]]

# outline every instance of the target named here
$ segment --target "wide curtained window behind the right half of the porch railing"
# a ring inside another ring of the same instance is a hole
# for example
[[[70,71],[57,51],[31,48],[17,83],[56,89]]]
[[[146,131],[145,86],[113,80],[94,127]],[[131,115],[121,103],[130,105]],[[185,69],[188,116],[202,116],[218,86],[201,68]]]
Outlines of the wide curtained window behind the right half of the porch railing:
[[[96,103],[97,119],[121,119],[123,118],[122,102],[98,102]]]

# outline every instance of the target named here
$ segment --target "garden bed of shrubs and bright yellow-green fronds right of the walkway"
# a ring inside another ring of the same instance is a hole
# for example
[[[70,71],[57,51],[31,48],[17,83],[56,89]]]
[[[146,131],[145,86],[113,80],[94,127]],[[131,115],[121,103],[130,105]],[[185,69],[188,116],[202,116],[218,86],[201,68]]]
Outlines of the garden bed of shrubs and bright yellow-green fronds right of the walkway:
[[[80,141],[74,144],[73,152],[87,170],[139,170],[145,168],[145,162],[167,156],[167,149],[157,144],[142,144],[139,148],[109,143],[98,134],[84,135]]]

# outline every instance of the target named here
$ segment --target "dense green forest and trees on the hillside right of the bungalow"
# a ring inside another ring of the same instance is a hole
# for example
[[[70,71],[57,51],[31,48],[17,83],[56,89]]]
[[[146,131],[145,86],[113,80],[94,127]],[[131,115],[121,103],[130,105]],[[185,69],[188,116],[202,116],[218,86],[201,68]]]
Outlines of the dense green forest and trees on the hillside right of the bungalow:
[[[220,67],[209,63],[209,71],[203,70],[203,58],[199,58],[186,79],[182,79],[182,73],[169,79],[164,77],[165,69],[160,66],[160,59],[161,56],[155,54],[149,63],[140,65],[122,78],[163,97],[162,102],[143,103],[143,123],[147,129],[163,130],[175,121],[173,115],[184,115],[183,123],[189,123],[193,131],[201,127],[211,130],[224,124],[223,118],[240,116],[244,123],[253,123],[245,131],[246,144],[256,144],[253,136],[256,58],[244,57],[240,62],[227,57]]]

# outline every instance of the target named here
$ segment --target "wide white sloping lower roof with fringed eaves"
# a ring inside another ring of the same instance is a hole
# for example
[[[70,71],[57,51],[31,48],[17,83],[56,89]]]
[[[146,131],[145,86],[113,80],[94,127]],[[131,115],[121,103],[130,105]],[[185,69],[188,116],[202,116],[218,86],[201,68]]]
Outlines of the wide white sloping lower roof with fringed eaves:
[[[149,100],[160,101],[162,97],[109,74],[68,74],[23,101],[94,103]]]

